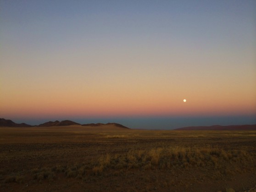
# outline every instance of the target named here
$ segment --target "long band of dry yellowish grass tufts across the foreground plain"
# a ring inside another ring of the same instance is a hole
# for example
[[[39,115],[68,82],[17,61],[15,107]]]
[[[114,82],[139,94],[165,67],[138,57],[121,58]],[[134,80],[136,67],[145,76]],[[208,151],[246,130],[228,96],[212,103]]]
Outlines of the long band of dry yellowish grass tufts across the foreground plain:
[[[242,172],[244,165],[254,163],[254,156],[246,151],[225,151],[222,148],[206,147],[166,147],[145,150],[129,150],[125,154],[105,154],[99,159],[74,164],[56,165],[33,169],[33,179],[37,181],[56,178],[56,174],[65,173],[67,178],[83,179],[87,175],[102,175],[109,170],[179,170],[207,168],[215,170],[217,176]],[[239,166],[238,166],[239,165]],[[234,167],[236,169],[234,169]],[[20,182],[19,176],[9,176],[6,182]]]

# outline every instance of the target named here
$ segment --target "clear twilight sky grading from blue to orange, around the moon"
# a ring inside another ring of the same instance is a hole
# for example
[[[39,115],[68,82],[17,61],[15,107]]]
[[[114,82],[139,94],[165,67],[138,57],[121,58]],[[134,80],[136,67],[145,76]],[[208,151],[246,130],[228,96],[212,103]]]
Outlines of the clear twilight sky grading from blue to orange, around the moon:
[[[0,0],[0,117],[256,124],[256,1]]]

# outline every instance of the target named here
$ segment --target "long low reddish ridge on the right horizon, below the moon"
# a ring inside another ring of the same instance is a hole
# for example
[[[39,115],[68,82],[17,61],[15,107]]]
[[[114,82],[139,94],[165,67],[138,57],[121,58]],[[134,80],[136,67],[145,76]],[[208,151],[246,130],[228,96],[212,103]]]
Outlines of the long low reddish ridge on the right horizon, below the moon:
[[[188,127],[182,127],[178,129],[173,129],[177,131],[203,131],[203,130],[209,130],[209,131],[256,131],[256,125],[232,125],[232,126],[188,126]]]

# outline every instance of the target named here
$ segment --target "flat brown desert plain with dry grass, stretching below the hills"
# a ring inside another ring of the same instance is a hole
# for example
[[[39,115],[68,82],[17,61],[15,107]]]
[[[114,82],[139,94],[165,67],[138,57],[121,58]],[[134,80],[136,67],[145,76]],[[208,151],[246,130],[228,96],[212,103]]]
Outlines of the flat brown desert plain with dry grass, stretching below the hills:
[[[256,131],[0,127],[0,191],[255,191]]]

